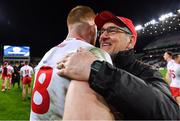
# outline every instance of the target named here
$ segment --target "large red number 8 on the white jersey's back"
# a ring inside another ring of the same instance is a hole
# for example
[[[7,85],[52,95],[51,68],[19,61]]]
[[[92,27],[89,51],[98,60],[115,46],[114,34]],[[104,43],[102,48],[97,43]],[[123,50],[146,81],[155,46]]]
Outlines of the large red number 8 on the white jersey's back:
[[[53,69],[49,66],[42,66],[37,73],[32,92],[32,110],[37,114],[44,114],[49,110],[50,96],[47,88],[51,81],[52,73]]]

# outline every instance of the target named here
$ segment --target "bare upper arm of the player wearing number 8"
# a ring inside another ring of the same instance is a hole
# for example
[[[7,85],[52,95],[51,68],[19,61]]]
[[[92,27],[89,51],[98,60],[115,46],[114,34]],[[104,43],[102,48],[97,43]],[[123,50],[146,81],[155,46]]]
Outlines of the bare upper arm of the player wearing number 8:
[[[99,50],[90,50],[99,59],[105,55]],[[113,120],[104,98],[94,92],[85,81],[72,80],[66,95],[63,120]]]

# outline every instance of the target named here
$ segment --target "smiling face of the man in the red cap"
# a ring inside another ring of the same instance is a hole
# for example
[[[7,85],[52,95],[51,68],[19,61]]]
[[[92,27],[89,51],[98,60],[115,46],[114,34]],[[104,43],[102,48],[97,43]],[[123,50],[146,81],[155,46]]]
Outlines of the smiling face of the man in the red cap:
[[[116,54],[119,51],[124,51],[132,44],[132,35],[118,29],[119,26],[112,22],[105,23],[100,31],[100,48],[109,54]],[[109,31],[108,31],[109,30]]]

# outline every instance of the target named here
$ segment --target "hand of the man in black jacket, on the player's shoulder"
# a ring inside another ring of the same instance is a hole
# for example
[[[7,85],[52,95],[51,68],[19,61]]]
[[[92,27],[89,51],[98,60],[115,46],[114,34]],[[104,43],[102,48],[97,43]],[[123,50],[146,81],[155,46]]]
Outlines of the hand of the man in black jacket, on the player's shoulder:
[[[91,64],[97,60],[96,56],[85,49],[71,53],[57,63],[58,75],[71,80],[89,80]]]

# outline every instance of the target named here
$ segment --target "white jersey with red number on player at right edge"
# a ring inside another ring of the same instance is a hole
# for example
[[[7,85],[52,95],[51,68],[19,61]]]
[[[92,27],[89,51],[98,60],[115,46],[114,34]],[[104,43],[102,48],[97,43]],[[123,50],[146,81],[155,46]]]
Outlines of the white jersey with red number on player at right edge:
[[[180,88],[180,64],[174,62],[170,74],[171,74],[170,87]]]

